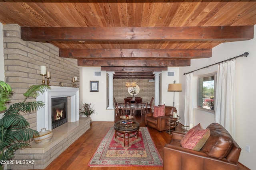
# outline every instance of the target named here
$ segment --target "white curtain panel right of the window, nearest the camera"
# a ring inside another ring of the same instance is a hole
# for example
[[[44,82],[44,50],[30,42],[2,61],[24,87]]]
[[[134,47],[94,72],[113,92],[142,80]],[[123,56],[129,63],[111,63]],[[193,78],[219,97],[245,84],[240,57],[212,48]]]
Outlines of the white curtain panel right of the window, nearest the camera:
[[[215,122],[235,139],[236,123],[236,60],[218,65],[215,97]]]

